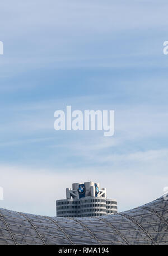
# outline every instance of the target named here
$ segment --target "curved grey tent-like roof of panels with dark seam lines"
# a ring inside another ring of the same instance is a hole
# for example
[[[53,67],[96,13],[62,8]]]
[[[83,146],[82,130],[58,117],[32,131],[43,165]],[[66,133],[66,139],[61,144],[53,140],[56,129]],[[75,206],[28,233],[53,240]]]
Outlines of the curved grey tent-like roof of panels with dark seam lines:
[[[168,200],[92,218],[31,215],[0,208],[0,244],[168,244]]]

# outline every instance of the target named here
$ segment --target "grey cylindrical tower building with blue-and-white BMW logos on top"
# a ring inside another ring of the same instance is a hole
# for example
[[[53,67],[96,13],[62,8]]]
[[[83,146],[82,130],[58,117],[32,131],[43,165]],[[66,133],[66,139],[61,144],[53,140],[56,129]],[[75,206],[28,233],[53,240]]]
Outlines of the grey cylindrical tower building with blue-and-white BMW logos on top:
[[[66,189],[67,199],[57,200],[57,217],[94,217],[117,213],[115,199],[106,198],[106,189],[92,181],[73,183]]]

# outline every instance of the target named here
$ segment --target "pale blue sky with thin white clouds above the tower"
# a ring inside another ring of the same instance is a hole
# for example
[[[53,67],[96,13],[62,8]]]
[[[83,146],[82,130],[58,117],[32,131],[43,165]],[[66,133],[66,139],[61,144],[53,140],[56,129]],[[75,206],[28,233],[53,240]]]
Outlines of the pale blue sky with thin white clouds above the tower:
[[[167,1],[0,3],[1,207],[55,215],[93,180],[128,210],[167,186]],[[115,110],[115,134],[55,131],[54,111]]]

